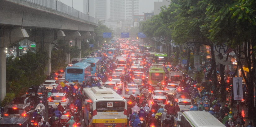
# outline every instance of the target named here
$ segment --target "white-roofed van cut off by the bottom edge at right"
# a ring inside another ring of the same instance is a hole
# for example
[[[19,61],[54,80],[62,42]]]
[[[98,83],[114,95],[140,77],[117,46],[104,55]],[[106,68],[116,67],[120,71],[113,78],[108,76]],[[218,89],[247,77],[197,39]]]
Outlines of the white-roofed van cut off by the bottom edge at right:
[[[176,125],[174,125],[176,126]],[[204,111],[185,111],[182,113],[180,127],[226,127],[211,113]]]

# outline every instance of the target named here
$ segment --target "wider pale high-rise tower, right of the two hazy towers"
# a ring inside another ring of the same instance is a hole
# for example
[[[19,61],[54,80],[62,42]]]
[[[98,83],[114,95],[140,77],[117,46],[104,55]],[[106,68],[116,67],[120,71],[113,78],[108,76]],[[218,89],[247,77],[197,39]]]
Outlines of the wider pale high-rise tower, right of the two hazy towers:
[[[110,0],[110,19],[132,20],[133,15],[139,14],[139,0]]]

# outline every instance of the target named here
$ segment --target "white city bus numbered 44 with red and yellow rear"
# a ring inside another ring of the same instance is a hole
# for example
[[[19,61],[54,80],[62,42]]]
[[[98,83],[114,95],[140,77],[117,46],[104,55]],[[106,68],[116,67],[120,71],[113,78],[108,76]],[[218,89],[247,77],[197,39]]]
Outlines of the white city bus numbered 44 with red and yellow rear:
[[[84,88],[83,116],[89,127],[126,127],[127,101],[110,88]]]

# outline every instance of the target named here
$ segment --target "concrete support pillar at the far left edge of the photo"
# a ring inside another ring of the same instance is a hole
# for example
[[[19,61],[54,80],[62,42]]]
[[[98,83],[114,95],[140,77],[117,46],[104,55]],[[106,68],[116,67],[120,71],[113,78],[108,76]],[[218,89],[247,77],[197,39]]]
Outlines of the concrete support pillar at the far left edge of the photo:
[[[5,98],[6,96],[6,53],[5,53],[5,48],[1,47],[1,72],[0,72],[0,78],[1,78],[1,87],[0,87],[0,92],[1,92],[1,101]]]

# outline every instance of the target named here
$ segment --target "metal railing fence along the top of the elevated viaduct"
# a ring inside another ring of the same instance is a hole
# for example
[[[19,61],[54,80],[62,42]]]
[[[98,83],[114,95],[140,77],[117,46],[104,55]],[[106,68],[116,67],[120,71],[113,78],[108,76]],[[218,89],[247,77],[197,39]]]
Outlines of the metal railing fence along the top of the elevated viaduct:
[[[42,6],[48,9],[56,10],[58,12],[71,15],[76,18],[83,19],[88,22],[98,24],[98,20],[88,14],[84,14],[79,10],[74,9],[73,7],[67,6],[66,4],[58,0],[23,0],[25,2],[30,2],[37,6]]]

